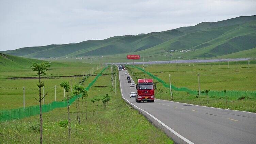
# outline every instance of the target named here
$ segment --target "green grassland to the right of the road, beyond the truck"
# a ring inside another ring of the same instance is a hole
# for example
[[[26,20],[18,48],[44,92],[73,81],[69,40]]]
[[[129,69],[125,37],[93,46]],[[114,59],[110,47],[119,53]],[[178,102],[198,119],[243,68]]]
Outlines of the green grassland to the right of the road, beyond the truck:
[[[143,68],[142,65],[139,67]],[[229,67],[229,68],[228,68]],[[198,76],[200,79],[201,91],[210,90],[238,90],[238,91],[256,91],[256,61],[250,61],[249,69],[247,61],[236,62],[211,62],[210,63],[183,63],[178,64],[155,64],[144,65],[145,71],[162,79],[169,84],[169,74],[171,75],[171,84],[176,87],[187,87],[192,90],[198,90]],[[138,78],[151,78],[137,68],[128,66],[128,71],[133,80]],[[170,88],[165,88],[162,83],[154,80],[157,84],[155,97],[163,100],[171,100]],[[242,110],[256,112],[256,97],[248,96],[211,96],[207,103],[207,96],[196,96],[187,94],[187,92],[172,90],[173,101],[203,105],[224,109]]]

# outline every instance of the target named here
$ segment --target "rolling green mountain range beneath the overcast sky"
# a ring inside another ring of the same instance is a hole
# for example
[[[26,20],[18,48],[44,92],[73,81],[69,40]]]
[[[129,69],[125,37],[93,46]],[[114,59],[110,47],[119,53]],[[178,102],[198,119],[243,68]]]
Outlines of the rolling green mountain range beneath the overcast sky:
[[[209,58],[236,53],[242,55],[256,48],[256,15],[218,22],[202,22],[162,32],[114,36],[103,40],[51,44],[0,51],[28,58],[83,57],[116,54],[163,55],[186,50],[189,58]],[[189,51],[190,50],[190,51]],[[239,53],[240,52],[240,53]]]

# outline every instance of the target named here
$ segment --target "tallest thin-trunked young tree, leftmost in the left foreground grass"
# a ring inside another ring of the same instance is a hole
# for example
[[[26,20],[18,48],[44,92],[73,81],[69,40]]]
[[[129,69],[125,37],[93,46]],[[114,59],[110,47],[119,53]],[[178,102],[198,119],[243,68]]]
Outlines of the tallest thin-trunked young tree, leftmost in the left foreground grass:
[[[41,88],[45,86],[44,82],[41,82],[41,76],[46,75],[46,71],[49,70],[50,65],[47,62],[43,62],[41,64],[33,63],[31,69],[36,71],[39,76],[39,84],[36,84],[39,88],[39,100],[35,98],[39,102],[40,107],[40,144],[43,143],[43,117],[42,117],[42,100],[47,95],[47,93],[42,97]]]

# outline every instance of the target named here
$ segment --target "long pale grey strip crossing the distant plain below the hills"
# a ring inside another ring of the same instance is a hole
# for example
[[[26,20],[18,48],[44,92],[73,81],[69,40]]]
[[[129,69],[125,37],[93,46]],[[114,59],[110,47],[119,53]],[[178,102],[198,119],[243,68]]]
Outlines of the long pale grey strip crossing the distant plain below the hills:
[[[172,64],[172,63],[198,63],[198,62],[224,62],[224,61],[246,61],[250,58],[233,58],[233,59],[184,59],[184,60],[166,60],[166,61],[144,61],[134,62],[135,65],[141,64]],[[136,60],[135,60],[136,61]],[[109,63],[108,63],[109,64]],[[113,63],[114,65],[132,65],[133,62],[119,62]]]

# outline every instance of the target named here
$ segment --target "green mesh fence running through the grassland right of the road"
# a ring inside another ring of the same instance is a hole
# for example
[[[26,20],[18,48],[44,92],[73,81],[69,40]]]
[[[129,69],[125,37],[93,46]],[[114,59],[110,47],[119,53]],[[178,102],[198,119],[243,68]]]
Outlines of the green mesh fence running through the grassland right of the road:
[[[137,68],[141,71],[143,71],[144,73],[146,73],[147,75],[153,77],[154,79],[158,80],[158,82],[162,83],[164,87],[166,88],[170,88],[170,85],[169,84],[166,84],[162,79],[160,79],[159,77],[156,77],[155,75],[151,74],[150,72],[147,72],[145,70],[143,70],[142,68],[140,67],[137,67],[137,66],[132,66],[134,68]],[[178,87],[175,87],[174,85],[171,85],[172,89],[175,90],[175,91],[185,91],[185,92],[188,92],[189,94],[192,94],[192,95],[197,95],[197,90],[191,90],[191,89],[188,89],[186,87],[181,87],[181,88],[178,88]],[[201,93],[201,95],[206,95],[206,93]],[[209,96],[218,96],[218,97],[223,97],[223,96],[229,96],[229,97],[241,97],[241,96],[249,96],[249,97],[256,97],[256,91],[214,91],[214,90],[211,90],[209,93],[208,93]]]

